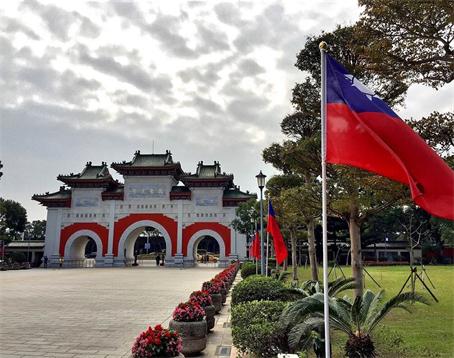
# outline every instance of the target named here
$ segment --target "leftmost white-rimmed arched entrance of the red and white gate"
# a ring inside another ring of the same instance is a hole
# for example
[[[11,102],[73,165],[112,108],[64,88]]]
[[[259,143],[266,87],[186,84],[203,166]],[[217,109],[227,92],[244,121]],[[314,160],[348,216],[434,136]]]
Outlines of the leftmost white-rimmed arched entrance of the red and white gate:
[[[102,240],[94,231],[79,230],[66,241],[62,264],[66,267],[94,267],[103,263]]]

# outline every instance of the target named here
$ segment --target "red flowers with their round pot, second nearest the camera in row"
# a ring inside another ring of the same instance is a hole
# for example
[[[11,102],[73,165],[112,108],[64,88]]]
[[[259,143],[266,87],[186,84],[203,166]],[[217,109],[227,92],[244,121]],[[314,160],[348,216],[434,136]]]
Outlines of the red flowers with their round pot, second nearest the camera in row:
[[[176,330],[183,340],[182,352],[193,354],[203,351],[207,344],[205,311],[195,302],[180,303],[173,311],[169,327]]]

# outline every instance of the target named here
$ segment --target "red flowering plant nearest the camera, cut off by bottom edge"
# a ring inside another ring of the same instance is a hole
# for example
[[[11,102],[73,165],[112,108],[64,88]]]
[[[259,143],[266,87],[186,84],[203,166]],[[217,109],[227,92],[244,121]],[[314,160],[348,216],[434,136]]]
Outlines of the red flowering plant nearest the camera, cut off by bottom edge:
[[[132,346],[133,358],[179,357],[181,354],[181,337],[172,329],[164,329],[161,325],[148,327],[139,334]]]

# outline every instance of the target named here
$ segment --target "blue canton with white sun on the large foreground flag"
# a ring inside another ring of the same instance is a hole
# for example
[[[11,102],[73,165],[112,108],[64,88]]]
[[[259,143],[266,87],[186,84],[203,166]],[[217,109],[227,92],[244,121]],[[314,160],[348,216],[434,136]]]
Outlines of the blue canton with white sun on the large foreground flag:
[[[345,103],[357,113],[383,112],[399,118],[382,99],[328,54],[326,55],[326,87],[328,103]]]

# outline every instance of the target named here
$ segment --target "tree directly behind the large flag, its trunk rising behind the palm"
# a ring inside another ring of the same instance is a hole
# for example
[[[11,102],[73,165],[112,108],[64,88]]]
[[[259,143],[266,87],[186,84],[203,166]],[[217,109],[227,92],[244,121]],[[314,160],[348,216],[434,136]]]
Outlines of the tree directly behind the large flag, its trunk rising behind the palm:
[[[332,33],[322,33],[308,39],[298,54],[296,67],[309,72],[313,81],[306,81],[319,86],[320,50],[319,43],[324,40],[330,44],[330,53],[336,57],[356,78],[379,94],[390,105],[403,101],[408,85],[402,76],[390,73],[376,74],[370,71],[365,49],[372,35],[357,36],[357,27],[338,27]],[[312,91],[313,92],[313,91]],[[295,92],[294,92],[295,93]],[[297,94],[302,91],[296,91]],[[306,90],[306,93],[309,93]],[[300,103],[299,108],[307,104],[315,106],[312,98],[294,98]],[[320,104],[320,101],[317,101]],[[314,107],[314,112],[316,108]],[[318,112],[317,112],[318,113]],[[363,269],[361,258],[361,225],[369,217],[403,198],[407,190],[401,184],[351,167],[329,166],[329,209],[349,225],[352,272],[357,287],[355,294],[362,295]]]

